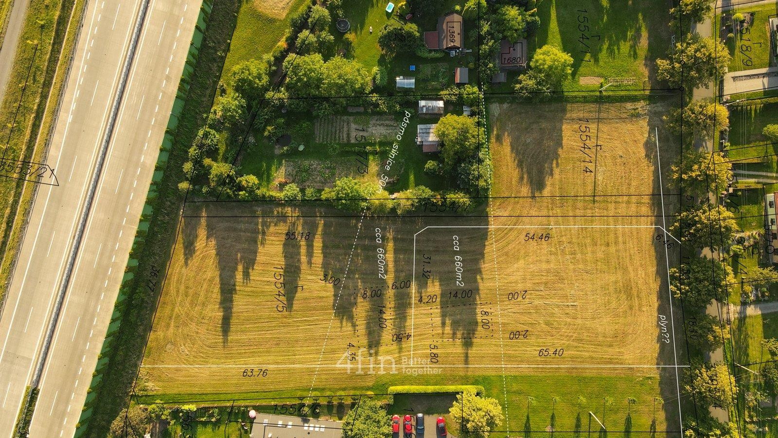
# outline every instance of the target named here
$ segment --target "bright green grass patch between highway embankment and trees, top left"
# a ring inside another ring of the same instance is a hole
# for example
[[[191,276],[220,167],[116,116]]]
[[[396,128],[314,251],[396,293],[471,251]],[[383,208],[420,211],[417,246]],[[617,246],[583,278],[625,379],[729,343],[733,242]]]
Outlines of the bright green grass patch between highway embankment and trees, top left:
[[[289,30],[289,20],[307,5],[306,0],[293,0],[282,19],[269,16],[258,9],[258,2],[244,1],[240,6],[237,25],[230,43],[222,75],[226,77],[235,65],[269,54]]]

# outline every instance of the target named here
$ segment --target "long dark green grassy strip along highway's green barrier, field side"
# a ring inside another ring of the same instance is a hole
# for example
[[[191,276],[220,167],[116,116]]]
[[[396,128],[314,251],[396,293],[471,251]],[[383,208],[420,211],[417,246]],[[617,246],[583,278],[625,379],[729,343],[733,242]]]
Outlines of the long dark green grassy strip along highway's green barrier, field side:
[[[91,393],[92,397],[87,397],[88,402],[91,398],[91,407],[88,408],[91,415],[85,433],[80,436],[106,436],[110,423],[128,404],[162,288],[163,282],[156,284],[156,277],[164,277],[177,235],[184,200],[178,189],[178,183],[185,179],[182,164],[187,160],[187,150],[199,127],[208,117],[239,8],[239,0],[215,2],[191,74],[191,83],[186,87],[182,81],[179,87],[179,92],[182,87],[187,92],[177,127],[168,129],[166,134],[173,138],[173,147],[164,175],[156,185],[157,194],[153,198],[149,196],[148,203],[153,214],[145,232],[145,242],[140,247],[134,246],[130,253],[131,259],[138,260],[138,266],[132,271],[134,277],[124,282],[120,295],[126,296],[114,311],[114,314],[121,313],[117,318],[121,324],[110,334],[110,345],[121,348],[103,345],[103,351],[110,352],[100,355],[98,367],[103,366],[100,369],[102,377]],[[145,210],[143,216],[146,216]],[[149,288],[149,284],[156,284],[156,287]]]

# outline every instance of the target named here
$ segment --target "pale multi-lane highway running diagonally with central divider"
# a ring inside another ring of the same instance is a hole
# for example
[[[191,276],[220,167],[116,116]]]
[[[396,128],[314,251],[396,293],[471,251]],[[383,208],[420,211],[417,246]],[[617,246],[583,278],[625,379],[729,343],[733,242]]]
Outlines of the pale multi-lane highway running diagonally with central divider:
[[[139,0],[89,0],[47,163],[0,316],[0,436],[30,383],[93,175]],[[30,436],[72,436],[113,312],[201,3],[151,0],[40,381]]]

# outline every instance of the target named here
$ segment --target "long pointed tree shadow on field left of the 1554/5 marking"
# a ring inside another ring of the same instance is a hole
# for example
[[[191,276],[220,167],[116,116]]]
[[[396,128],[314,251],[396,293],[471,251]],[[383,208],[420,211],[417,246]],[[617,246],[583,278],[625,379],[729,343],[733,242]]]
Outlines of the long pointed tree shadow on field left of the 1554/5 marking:
[[[233,299],[237,291],[238,267],[243,271],[243,281],[250,279],[247,273],[257,262],[259,249],[258,217],[210,217],[223,214],[218,204],[205,207],[206,238],[216,246],[216,263],[219,269],[219,306],[222,309],[222,343],[230,337],[230,322],[233,316]]]

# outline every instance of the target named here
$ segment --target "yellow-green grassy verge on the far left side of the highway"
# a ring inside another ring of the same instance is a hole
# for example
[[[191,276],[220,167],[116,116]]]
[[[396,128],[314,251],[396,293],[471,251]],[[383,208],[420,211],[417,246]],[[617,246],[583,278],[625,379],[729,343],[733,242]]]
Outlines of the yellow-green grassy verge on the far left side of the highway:
[[[46,4],[41,0],[33,0],[30,4],[9,88],[0,106],[2,146],[5,147],[5,141],[10,138],[5,157],[12,159],[45,161],[49,135],[56,121],[86,0],[63,0],[56,3],[58,7],[51,2],[48,6]],[[44,24],[41,25],[41,22]],[[27,41],[39,44],[34,60]],[[30,62],[33,62],[30,81],[22,92],[19,84],[24,83]],[[9,137],[15,115],[16,123]],[[36,191],[37,185],[32,182],[0,178],[0,199],[8,200],[0,210],[0,303],[5,297],[13,260]]]

